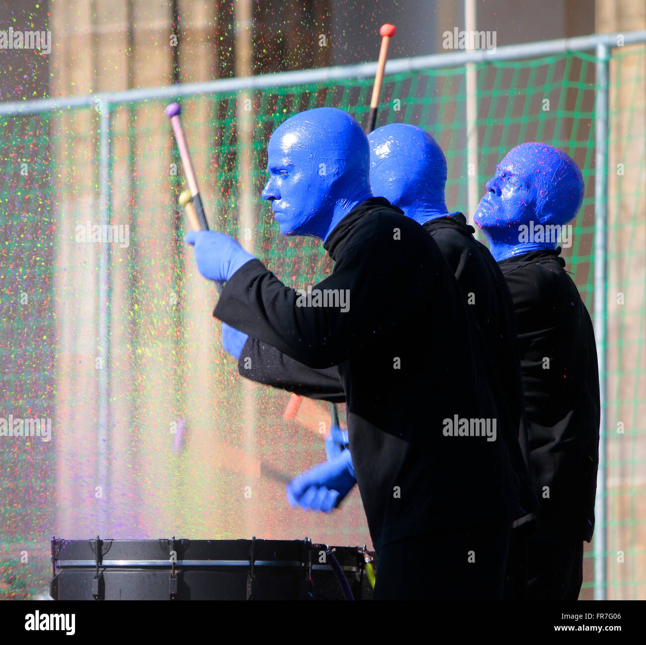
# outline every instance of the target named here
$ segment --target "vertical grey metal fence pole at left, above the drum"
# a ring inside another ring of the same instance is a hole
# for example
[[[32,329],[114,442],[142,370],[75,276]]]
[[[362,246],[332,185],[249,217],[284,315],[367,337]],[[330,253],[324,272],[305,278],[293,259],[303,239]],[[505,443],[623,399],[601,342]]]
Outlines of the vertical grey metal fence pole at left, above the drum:
[[[110,103],[96,100],[99,112],[99,220],[101,230],[110,225],[112,181],[110,178]],[[98,275],[98,418],[97,418],[97,486],[101,486],[98,531],[105,535],[109,524],[110,478],[110,243],[103,240],[99,247]]]

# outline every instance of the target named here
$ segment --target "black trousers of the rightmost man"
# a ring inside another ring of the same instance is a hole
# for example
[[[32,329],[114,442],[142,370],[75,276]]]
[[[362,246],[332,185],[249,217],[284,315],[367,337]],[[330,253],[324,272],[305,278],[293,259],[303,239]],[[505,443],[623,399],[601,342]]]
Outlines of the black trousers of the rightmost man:
[[[576,600],[583,582],[583,540],[527,544],[528,600]]]

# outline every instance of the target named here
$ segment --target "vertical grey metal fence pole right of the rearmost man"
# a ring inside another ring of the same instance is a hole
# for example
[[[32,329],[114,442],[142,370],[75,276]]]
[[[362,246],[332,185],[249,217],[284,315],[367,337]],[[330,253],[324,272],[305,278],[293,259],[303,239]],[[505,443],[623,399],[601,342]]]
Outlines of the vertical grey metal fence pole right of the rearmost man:
[[[594,505],[594,599],[605,600],[607,591],[607,495],[606,495],[606,344],[607,344],[607,280],[608,280],[608,80],[610,48],[599,43],[597,55],[597,93],[595,109],[595,176],[594,176],[594,336],[599,362],[599,470]]]

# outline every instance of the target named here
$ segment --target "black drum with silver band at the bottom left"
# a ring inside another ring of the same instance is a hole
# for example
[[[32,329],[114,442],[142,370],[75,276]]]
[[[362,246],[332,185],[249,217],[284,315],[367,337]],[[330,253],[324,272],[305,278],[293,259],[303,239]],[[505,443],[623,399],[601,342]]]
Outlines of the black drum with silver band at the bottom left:
[[[52,539],[54,600],[368,600],[365,548],[310,540]]]

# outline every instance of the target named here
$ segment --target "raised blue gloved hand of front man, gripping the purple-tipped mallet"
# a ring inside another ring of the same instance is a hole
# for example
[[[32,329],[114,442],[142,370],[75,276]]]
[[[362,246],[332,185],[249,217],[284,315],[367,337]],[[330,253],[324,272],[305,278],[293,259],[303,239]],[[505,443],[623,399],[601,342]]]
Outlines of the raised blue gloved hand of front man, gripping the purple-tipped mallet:
[[[255,260],[233,238],[214,230],[191,230],[184,241],[195,251],[198,271],[207,280],[227,282],[249,260]]]

